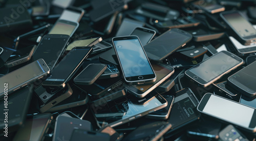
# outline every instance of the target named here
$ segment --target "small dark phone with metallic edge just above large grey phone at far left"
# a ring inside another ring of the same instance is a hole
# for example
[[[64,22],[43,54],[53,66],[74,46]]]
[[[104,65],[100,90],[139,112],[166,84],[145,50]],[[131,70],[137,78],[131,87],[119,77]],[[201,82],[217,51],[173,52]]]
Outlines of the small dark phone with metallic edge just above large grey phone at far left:
[[[5,66],[7,68],[11,68],[19,64],[28,62],[31,59],[36,47],[36,45],[31,45],[13,52],[8,60],[5,62]]]

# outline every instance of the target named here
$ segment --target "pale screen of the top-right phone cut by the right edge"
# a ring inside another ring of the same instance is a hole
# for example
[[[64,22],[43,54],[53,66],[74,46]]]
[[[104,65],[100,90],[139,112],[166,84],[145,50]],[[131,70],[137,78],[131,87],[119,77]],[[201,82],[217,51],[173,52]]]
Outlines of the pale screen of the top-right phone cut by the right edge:
[[[242,37],[256,35],[253,26],[239,13],[223,14],[223,16]]]

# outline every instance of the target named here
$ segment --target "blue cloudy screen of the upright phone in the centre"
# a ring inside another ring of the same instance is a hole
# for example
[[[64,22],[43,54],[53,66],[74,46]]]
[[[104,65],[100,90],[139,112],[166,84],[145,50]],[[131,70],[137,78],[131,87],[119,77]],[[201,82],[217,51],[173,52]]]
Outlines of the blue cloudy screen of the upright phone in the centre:
[[[138,39],[114,41],[125,77],[154,74]]]

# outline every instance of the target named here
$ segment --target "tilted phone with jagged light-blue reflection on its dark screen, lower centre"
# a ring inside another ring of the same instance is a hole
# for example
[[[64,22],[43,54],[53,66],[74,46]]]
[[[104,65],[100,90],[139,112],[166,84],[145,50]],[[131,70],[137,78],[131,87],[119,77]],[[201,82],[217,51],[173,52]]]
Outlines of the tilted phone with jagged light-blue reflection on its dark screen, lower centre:
[[[157,92],[153,91],[148,95],[151,99],[144,104],[140,104],[141,100],[130,94],[104,106],[92,107],[92,110],[99,121],[107,121],[109,126],[115,127],[167,106],[167,101]]]

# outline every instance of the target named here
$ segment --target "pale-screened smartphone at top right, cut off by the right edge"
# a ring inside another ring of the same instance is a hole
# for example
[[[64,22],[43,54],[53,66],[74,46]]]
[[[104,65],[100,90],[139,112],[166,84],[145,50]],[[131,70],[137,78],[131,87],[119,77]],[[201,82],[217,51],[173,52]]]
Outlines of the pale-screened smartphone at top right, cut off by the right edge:
[[[239,11],[226,11],[220,13],[221,18],[237,34],[239,41],[244,45],[256,43],[256,30]],[[243,26],[241,26],[243,25]]]

